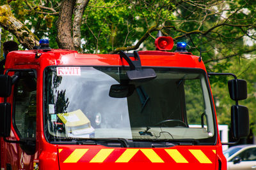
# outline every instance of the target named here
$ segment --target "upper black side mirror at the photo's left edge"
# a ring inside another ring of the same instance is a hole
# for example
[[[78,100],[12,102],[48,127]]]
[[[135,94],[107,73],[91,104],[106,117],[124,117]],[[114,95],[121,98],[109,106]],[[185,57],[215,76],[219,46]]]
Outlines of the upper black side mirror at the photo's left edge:
[[[12,77],[0,75],[0,97],[9,97],[12,92]]]

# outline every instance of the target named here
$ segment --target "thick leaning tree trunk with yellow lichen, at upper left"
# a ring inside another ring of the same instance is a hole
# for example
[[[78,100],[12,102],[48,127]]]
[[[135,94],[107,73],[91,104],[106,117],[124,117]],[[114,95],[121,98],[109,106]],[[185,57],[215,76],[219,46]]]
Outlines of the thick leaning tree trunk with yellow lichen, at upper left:
[[[0,25],[5,30],[12,32],[25,48],[33,49],[33,46],[39,45],[35,34],[13,16],[8,4],[0,6]]]

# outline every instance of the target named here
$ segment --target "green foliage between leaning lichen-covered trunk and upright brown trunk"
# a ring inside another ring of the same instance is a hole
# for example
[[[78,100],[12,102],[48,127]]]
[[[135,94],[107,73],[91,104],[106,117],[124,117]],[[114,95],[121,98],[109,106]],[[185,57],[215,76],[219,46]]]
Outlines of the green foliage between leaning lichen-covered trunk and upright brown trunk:
[[[42,1],[46,8],[58,8],[60,0]],[[16,18],[19,18],[38,38],[49,38],[51,48],[58,48],[56,43],[56,21],[58,15],[51,15],[51,10],[40,8],[40,1],[16,0],[9,3]],[[35,37],[35,38],[36,38]]]

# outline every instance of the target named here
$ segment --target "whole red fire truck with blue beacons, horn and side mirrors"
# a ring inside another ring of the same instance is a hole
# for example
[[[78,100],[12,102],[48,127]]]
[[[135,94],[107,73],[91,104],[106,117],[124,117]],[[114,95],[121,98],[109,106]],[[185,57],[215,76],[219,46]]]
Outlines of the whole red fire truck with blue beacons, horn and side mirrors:
[[[201,57],[155,51],[8,53],[0,75],[1,169],[227,169]],[[228,81],[231,130],[248,135],[246,81]],[[222,74],[221,74],[222,75]]]

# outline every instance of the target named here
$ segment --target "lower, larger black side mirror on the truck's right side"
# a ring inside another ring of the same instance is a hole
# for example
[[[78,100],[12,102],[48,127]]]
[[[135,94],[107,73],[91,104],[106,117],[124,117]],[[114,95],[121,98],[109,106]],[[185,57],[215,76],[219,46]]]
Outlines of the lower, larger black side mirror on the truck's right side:
[[[248,108],[241,105],[231,107],[231,132],[235,139],[244,138],[249,134]]]

